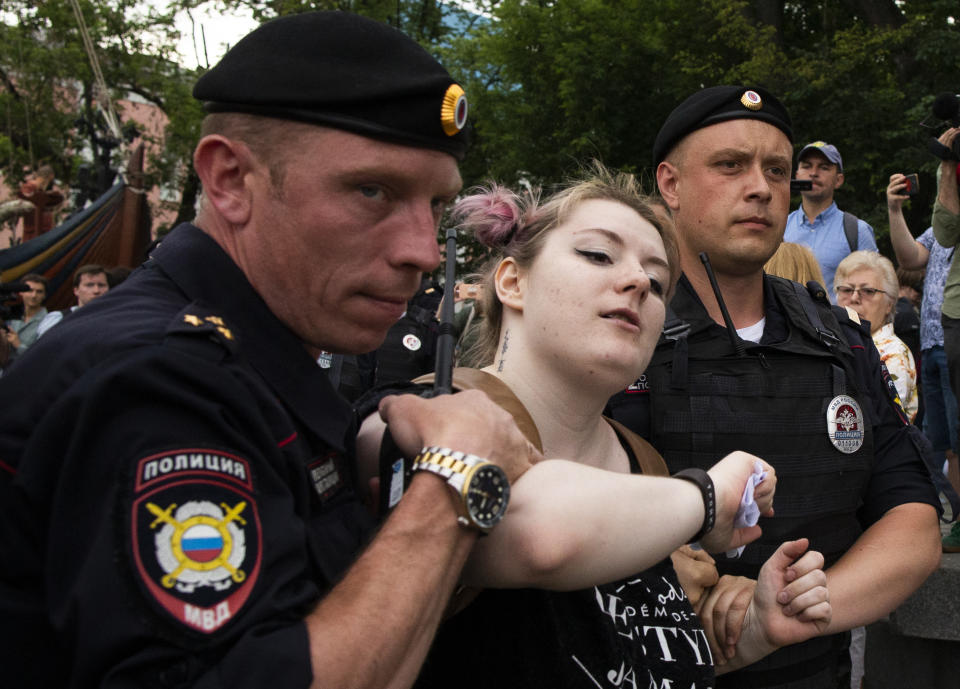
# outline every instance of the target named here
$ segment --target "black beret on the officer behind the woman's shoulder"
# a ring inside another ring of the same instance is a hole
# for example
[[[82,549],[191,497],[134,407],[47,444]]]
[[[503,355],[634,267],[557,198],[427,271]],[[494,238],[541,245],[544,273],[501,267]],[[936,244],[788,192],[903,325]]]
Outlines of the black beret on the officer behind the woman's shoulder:
[[[687,134],[739,119],[768,122],[793,143],[790,113],[769,91],[751,86],[711,86],[687,98],[667,117],[653,143],[653,164],[659,165]]]

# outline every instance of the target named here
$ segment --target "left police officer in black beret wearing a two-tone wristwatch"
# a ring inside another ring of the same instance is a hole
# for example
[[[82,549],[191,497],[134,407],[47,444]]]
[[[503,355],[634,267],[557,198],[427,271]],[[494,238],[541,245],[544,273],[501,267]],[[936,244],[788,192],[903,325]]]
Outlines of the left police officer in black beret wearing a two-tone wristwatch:
[[[445,459],[374,533],[316,358],[375,349],[438,264],[463,90],[331,12],[261,26],[194,95],[195,224],[0,382],[0,666],[18,687],[406,686],[532,453],[481,393],[386,401],[405,453]]]

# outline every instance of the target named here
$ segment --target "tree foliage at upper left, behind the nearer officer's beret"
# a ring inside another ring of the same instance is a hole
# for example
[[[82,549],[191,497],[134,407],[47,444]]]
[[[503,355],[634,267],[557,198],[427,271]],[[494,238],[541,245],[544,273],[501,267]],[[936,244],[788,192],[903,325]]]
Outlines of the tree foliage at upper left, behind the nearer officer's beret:
[[[148,182],[181,188],[201,112],[190,98],[196,74],[174,59],[173,10],[143,0],[80,0],[88,35],[114,102],[136,94],[170,118],[160,153],[148,162]],[[76,181],[79,152],[98,150],[80,118],[100,122],[94,76],[68,2],[6,0],[0,14],[0,159],[8,184],[27,165],[50,163]],[[100,130],[97,135],[106,132]],[[123,155],[118,152],[118,155]],[[115,163],[122,162],[115,160]]]

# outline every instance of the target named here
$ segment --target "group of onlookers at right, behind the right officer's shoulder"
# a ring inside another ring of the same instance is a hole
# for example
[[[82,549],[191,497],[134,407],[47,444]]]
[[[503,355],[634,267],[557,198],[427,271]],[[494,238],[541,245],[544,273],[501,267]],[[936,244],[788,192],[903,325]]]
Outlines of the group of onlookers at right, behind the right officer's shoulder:
[[[950,127],[939,142],[953,145],[957,134],[958,129]],[[938,166],[933,225],[916,238],[903,214],[903,204],[916,192],[911,188],[917,184],[916,175],[890,176],[886,202],[895,266],[877,253],[868,224],[837,210],[833,191],[843,183],[843,161],[836,146],[814,142],[801,149],[798,158],[796,179],[810,180],[812,188],[801,192],[802,205],[790,214],[784,242],[765,269],[824,286],[835,303],[869,322],[900,406],[931,443],[937,470],[947,476],[954,493],[960,492],[956,397],[960,359],[954,357],[951,374],[943,326],[956,320],[951,313],[960,315],[950,310],[949,303],[944,305],[957,241],[952,225],[957,161],[944,160]],[[942,242],[935,234],[937,227]],[[960,524],[955,522],[943,537],[942,547],[943,552],[960,552]]]

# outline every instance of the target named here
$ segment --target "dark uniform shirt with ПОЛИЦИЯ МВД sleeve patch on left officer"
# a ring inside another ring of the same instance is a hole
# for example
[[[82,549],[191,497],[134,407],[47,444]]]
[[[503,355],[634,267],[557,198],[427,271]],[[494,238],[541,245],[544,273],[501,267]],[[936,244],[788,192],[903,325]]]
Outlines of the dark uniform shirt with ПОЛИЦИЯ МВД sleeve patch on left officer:
[[[212,239],[175,229],[0,408],[8,679],[307,686],[303,618],[372,526],[352,415]]]

